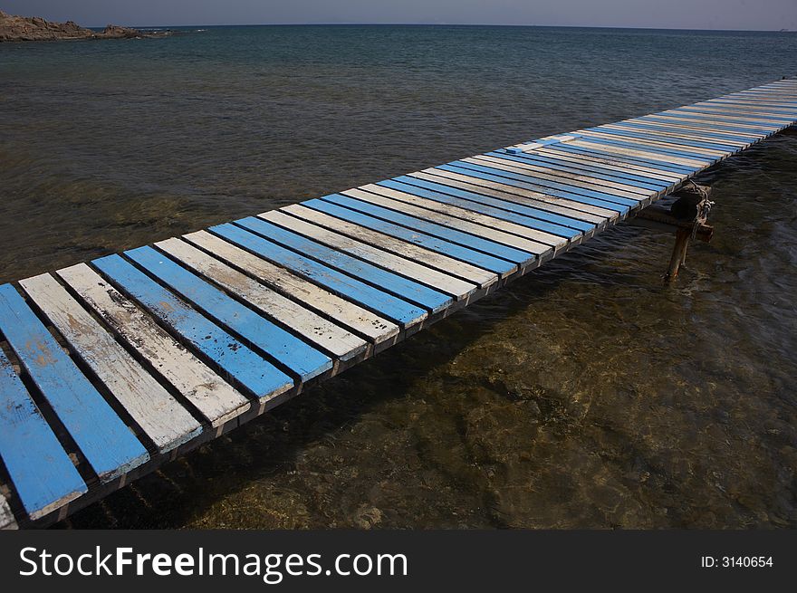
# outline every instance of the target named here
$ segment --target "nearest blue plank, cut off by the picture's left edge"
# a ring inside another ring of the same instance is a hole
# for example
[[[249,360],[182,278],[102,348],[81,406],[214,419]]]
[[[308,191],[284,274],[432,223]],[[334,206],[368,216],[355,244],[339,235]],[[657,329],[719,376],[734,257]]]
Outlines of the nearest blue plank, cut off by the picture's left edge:
[[[32,519],[88,491],[3,350],[0,350],[0,457]]]

